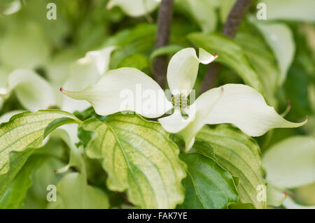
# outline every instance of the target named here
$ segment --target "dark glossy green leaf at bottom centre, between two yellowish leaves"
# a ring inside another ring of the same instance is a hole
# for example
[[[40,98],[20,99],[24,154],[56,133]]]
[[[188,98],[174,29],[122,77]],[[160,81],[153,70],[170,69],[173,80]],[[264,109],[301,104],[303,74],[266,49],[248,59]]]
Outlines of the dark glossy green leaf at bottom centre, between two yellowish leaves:
[[[232,175],[202,154],[181,154],[186,162],[188,176],[183,180],[185,201],[179,208],[228,208],[237,203],[237,189]]]

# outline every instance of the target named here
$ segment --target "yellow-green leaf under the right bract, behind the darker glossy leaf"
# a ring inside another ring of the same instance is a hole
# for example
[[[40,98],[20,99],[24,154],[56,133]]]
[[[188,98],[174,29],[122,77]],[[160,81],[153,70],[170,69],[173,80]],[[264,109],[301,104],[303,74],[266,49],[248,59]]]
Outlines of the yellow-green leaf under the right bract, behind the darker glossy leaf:
[[[253,203],[255,208],[265,208],[264,201],[258,201],[256,190],[265,185],[258,144],[253,138],[235,127],[222,124],[214,129],[204,127],[196,140],[205,141],[214,148],[218,164],[239,178],[237,190],[241,203]]]

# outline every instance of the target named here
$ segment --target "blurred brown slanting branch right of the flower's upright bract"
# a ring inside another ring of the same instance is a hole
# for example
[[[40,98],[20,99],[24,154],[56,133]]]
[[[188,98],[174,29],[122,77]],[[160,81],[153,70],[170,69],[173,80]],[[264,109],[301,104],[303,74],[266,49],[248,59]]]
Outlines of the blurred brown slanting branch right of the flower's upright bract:
[[[229,38],[234,38],[241,21],[244,19],[248,8],[251,6],[252,0],[237,0],[233,6],[228,19],[226,20],[222,34]],[[220,55],[219,55],[220,57]],[[206,73],[202,89],[200,93],[206,92],[208,89],[216,87],[218,82],[218,74],[221,71],[221,64],[214,63],[209,66],[209,70]]]

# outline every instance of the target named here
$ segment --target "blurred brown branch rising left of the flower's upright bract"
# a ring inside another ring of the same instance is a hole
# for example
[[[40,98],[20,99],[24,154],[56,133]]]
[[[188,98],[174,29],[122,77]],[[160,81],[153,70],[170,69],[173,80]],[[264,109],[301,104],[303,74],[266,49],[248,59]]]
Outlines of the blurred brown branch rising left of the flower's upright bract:
[[[162,48],[169,44],[169,34],[173,17],[174,0],[162,0],[158,13],[158,31],[156,34],[155,49]],[[165,87],[167,73],[167,57],[156,57],[153,61],[153,78]]]

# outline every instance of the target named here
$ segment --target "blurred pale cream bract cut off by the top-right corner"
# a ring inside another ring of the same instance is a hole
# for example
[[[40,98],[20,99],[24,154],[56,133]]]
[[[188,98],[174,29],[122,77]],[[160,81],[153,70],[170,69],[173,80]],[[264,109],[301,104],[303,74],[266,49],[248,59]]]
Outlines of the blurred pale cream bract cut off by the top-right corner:
[[[267,20],[315,21],[313,0],[262,0],[267,6]]]

